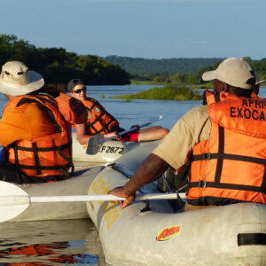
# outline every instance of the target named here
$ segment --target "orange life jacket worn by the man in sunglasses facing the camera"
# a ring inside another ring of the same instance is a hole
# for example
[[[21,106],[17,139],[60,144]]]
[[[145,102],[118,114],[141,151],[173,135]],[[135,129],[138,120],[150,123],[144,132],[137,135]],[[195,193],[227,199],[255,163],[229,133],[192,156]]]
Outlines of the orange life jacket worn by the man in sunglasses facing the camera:
[[[106,109],[96,99],[86,98],[82,100],[82,104],[88,108],[92,115],[85,125],[86,134],[110,133],[113,132],[113,127],[119,126],[119,122],[115,120],[112,114],[107,113]]]

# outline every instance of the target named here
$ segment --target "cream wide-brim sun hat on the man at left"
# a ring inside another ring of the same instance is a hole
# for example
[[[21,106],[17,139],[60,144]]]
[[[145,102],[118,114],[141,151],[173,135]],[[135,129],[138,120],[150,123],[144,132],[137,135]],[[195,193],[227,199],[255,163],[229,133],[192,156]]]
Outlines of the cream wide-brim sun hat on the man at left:
[[[0,92],[20,96],[39,90],[44,80],[41,74],[28,70],[20,61],[9,61],[2,66],[0,76]]]

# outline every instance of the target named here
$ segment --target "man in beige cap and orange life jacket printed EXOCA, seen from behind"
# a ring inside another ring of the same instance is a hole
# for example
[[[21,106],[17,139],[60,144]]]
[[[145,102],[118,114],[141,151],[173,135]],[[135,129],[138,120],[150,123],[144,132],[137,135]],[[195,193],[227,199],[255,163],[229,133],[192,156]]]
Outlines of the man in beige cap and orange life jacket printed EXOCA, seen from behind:
[[[229,58],[202,75],[214,80],[207,106],[198,106],[176,122],[141,164],[128,184],[110,194],[127,207],[141,186],[159,178],[170,165],[176,171],[190,161],[185,210],[238,202],[266,204],[266,99],[253,93],[259,82],[245,59]]]

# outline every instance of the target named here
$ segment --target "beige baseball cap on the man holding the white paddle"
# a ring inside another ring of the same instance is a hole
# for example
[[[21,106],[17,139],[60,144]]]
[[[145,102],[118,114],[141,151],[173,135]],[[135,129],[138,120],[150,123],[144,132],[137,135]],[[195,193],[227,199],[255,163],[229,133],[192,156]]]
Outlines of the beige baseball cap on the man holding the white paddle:
[[[217,67],[216,70],[207,71],[202,74],[204,81],[219,80],[231,86],[241,89],[252,90],[260,81],[251,66],[245,59],[228,58]]]

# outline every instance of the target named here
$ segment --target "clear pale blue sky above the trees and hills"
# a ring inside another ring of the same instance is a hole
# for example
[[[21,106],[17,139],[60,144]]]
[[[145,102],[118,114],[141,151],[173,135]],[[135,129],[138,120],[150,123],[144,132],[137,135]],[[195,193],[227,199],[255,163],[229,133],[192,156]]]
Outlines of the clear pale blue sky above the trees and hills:
[[[3,0],[0,34],[145,59],[266,57],[265,0]]]

